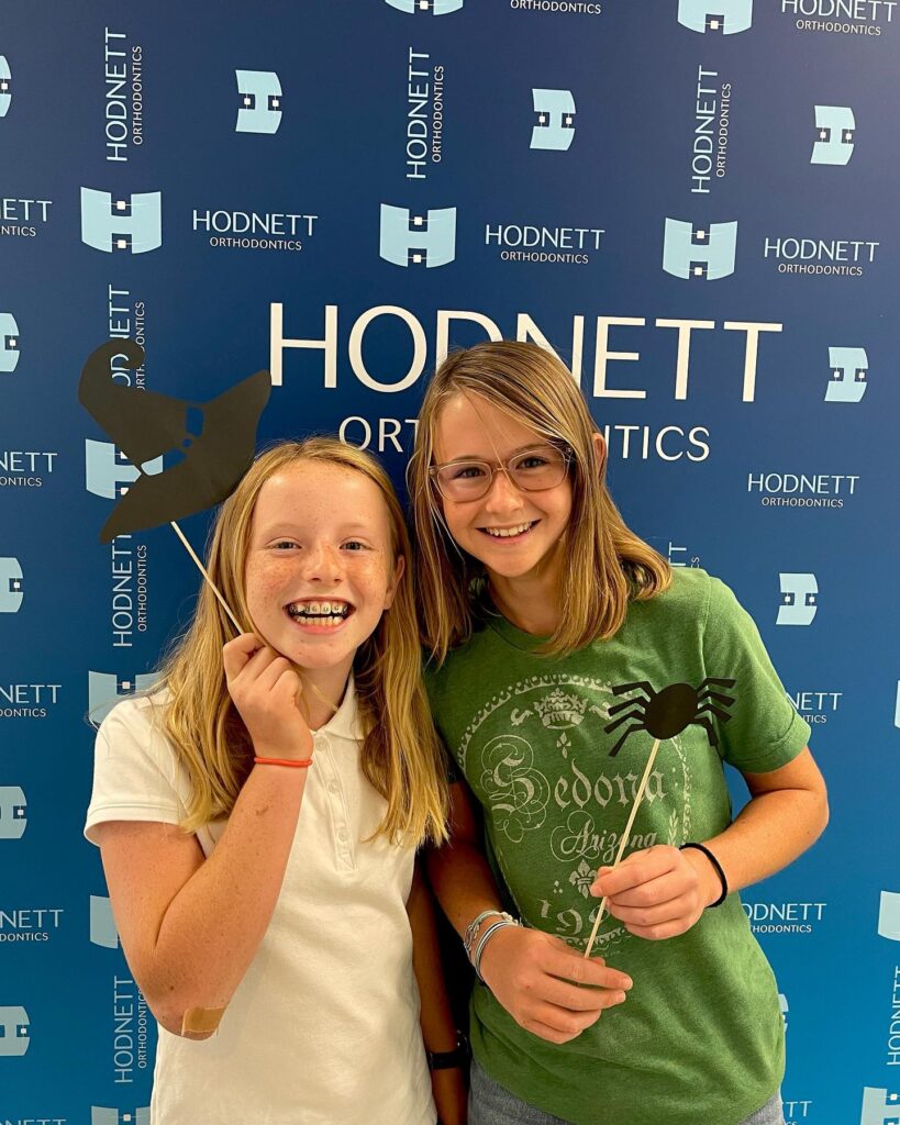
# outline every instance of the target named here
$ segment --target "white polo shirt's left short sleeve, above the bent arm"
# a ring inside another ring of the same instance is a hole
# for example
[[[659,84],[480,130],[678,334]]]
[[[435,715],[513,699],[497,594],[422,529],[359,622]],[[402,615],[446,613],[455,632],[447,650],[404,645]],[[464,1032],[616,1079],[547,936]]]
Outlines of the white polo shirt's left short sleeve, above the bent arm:
[[[107,820],[177,825],[187,814],[186,777],[162,730],[164,704],[151,696],[117,704],[97,731],[93,792],[84,835]]]

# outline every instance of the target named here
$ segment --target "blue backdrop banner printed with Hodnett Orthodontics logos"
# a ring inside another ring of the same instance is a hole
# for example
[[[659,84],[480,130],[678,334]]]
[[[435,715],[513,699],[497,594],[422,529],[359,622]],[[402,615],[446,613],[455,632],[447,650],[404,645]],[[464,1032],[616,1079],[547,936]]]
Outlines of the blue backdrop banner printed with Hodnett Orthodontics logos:
[[[87,717],[198,582],[166,528],[100,543],[136,470],[86,358],[136,340],[114,378],[194,402],[269,368],[262,440],[338,432],[402,486],[435,363],[514,338],[813,724],[830,827],[744,894],[786,1119],[896,1125],[897,0],[1,7],[0,1123],[147,1119]]]

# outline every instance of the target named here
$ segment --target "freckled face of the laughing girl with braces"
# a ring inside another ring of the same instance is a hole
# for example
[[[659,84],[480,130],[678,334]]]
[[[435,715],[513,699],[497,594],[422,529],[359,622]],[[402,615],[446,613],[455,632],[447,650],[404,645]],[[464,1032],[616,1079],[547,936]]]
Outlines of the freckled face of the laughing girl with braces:
[[[253,510],[248,608],[262,639],[303,668],[344,668],[375,631],[403,574],[378,485],[299,461],[270,477]]]

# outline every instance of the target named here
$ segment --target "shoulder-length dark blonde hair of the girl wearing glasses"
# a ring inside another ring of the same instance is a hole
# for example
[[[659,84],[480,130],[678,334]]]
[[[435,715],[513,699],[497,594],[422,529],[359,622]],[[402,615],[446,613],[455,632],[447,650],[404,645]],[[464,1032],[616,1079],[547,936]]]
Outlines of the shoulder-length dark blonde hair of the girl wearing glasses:
[[[565,532],[565,613],[540,651],[564,655],[621,627],[630,598],[667,588],[668,562],[626,526],[605,484],[596,426],[572,374],[537,344],[500,341],[451,352],[425,390],[407,483],[416,529],[423,641],[441,664],[472,633],[472,580],[484,567],[453,542],[429,474],[440,413],[454,395],[477,395],[516,422],[572,449],[572,514]]]

